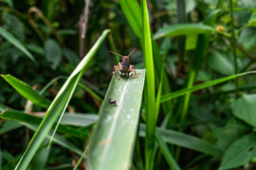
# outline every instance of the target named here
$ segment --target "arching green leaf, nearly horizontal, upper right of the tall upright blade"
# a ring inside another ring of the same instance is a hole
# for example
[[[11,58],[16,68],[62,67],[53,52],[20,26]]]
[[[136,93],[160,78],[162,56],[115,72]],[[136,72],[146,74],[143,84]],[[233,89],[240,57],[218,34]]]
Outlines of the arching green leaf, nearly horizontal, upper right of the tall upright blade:
[[[204,34],[212,32],[214,30],[215,29],[213,27],[204,24],[180,23],[158,29],[157,32],[154,34],[153,39],[156,40],[165,36],[186,36],[194,34]]]

